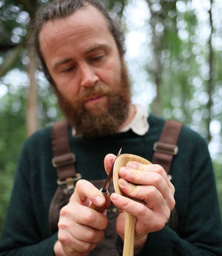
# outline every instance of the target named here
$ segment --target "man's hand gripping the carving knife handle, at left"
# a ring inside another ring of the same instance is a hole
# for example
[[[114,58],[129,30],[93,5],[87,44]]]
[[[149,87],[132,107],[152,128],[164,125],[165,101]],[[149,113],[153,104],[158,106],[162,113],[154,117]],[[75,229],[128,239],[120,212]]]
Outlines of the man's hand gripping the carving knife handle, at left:
[[[104,239],[107,217],[89,206],[103,206],[106,203],[101,192],[87,182],[79,180],[70,202],[60,211],[56,256],[84,256]]]

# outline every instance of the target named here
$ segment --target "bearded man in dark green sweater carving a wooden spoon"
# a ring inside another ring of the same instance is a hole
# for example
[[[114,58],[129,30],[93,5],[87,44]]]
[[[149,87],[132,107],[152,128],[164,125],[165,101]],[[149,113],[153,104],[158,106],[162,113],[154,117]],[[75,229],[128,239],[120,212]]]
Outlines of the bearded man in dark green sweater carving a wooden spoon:
[[[112,193],[111,185],[110,204],[98,189],[115,161],[108,153],[123,147],[126,153],[152,160],[164,126],[163,119],[132,104],[123,36],[101,3],[52,1],[38,13],[35,29],[36,50],[67,117],[71,155],[75,153],[76,177],[81,180],[72,177],[75,189],[70,179],[58,180],[51,164],[52,127],[28,138],[0,255],[122,255],[123,211],[136,220],[134,255],[221,255],[212,162],[206,142],[186,126],[178,138],[171,180],[161,165],[130,161],[118,170],[118,186],[127,197]],[[61,201],[61,209],[54,207]],[[168,220],[175,203],[174,230]],[[107,211],[96,210],[103,206]]]

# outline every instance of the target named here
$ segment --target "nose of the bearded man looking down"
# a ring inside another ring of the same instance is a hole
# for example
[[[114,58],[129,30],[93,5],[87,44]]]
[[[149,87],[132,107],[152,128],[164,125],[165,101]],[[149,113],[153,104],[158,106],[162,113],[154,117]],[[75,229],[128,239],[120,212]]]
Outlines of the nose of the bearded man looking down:
[[[81,86],[82,87],[92,87],[98,82],[98,75],[95,73],[95,70],[89,64],[81,65]]]

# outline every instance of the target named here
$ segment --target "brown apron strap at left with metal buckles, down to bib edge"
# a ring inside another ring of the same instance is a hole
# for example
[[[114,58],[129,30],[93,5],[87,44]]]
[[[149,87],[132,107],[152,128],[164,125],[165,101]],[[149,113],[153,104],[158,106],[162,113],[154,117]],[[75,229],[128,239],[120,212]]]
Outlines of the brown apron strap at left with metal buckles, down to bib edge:
[[[50,230],[58,231],[59,213],[63,206],[67,205],[73,194],[75,183],[81,179],[81,174],[75,171],[75,154],[70,148],[68,122],[66,120],[55,122],[51,131],[53,146],[53,167],[58,176],[58,188],[50,203],[49,223]]]

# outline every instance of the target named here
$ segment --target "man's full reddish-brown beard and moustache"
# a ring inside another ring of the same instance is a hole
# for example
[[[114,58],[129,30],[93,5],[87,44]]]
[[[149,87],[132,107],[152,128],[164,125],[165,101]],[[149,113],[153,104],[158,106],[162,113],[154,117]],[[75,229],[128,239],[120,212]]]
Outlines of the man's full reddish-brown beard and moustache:
[[[121,78],[115,81],[115,86],[98,83],[91,88],[86,88],[73,102],[56,89],[55,93],[58,96],[61,111],[75,127],[75,136],[92,138],[114,134],[129,114],[131,92],[127,68],[124,64],[121,68]],[[92,114],[84,108],[84,102],[92,96],[99,95],[108,96],[109,107],[101,108],[101,105],[95,105],[96,114]]]

